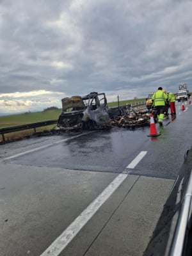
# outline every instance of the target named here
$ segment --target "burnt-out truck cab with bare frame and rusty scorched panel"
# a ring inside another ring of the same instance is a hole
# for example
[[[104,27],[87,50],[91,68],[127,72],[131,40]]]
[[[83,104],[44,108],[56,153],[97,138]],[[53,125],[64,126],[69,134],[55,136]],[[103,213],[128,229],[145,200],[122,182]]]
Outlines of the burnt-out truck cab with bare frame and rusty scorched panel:
[[[66,131],[111,127],[105,93],[91,92],[83,97],[67,97],[61,102],[63,111],[58,118],[58,127]]]

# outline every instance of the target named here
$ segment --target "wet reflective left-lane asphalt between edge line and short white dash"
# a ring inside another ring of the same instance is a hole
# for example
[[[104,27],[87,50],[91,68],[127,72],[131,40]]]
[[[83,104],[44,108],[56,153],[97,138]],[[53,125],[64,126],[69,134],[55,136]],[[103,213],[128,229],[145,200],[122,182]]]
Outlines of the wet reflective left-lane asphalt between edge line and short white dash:
[[[122,172],[147,143],[147,129],[112,129],[86,134],[73,140],[31,152],[11,163],[78,170]]]

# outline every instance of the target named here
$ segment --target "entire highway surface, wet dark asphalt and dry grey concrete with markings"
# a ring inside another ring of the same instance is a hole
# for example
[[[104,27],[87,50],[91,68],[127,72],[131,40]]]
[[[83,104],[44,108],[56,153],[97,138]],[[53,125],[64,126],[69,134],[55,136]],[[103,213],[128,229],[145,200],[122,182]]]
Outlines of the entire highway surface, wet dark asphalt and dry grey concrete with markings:
[[[0,254],[168,255],[191,112],[177,103],[156,138],[113,128],[1,145]]]

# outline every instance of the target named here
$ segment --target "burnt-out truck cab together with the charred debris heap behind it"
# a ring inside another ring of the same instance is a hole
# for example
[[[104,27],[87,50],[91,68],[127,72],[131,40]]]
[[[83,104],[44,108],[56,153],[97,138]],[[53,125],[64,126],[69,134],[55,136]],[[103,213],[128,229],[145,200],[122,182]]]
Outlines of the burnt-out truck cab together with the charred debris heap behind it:
[[[133,111],[131,105],[108,108],[105,93],[91,92],[83,97],[61,100],[63,111],[58,127],[64,131],[109,129],[114,126],[135,128],[150,125],[150,114]]]

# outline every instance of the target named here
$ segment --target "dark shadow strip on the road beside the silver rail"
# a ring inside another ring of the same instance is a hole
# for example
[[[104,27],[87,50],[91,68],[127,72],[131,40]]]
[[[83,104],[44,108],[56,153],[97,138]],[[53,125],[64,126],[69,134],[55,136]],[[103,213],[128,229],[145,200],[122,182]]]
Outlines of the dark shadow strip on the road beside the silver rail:
[[[172,247],[175,225],[179,218],[182,199],[188,186],[189,175],[192,169],[192,147],[184,155],[184,163],[180,168],[173,189],[164,204],[163,212],[153,232],[150,243],[143,256],[166,256]],[[191,247],[191,246],[190,246]],[[189,248],[188,248],[189,249]],[[191,252],[191,248],[190,248]],[[188,253],[190,253],[188,250]],[[191,255],[191,254],[184,254]]]

